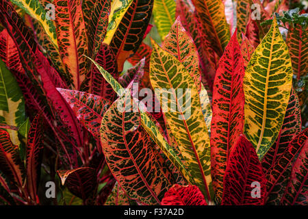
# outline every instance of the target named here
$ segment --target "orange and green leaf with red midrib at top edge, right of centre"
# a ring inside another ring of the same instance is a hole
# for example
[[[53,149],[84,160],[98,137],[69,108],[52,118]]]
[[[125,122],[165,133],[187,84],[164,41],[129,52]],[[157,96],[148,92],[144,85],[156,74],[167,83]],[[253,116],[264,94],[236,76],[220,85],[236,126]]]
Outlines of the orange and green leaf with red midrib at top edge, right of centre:
[[[224,4],[221,0],[192,0],[192,3],[211,42],[211,47],[218,55],[222,55],[230,40],[229,25],[224,16]]]

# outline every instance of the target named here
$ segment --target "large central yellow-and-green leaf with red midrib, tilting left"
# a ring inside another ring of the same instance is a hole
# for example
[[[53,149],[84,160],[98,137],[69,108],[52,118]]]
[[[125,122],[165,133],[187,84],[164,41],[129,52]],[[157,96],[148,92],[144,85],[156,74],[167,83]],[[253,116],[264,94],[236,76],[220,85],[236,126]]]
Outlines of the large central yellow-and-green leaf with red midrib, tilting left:
[[[209,135],[198,90],[185,66],[155,42],[152,44],[151,84],[190,175],[206,198],[211,200]]]

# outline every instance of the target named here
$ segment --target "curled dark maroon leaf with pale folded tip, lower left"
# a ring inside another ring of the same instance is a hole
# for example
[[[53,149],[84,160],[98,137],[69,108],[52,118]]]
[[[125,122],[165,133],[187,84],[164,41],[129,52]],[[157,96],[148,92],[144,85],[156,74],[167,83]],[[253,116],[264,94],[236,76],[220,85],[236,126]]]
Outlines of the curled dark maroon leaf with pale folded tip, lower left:
[[[84,201],[91,201],[97,191],[97,175],[93,168],[81,167],[73,170],[57,170],[62,185]],[[90,204],[90,203],[89,203]]]

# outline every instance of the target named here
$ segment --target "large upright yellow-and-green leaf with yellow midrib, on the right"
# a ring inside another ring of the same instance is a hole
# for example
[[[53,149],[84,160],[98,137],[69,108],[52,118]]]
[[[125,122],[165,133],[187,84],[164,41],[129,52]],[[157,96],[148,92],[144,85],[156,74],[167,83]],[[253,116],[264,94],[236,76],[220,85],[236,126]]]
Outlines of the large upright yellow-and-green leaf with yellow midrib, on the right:
[[[262,159],[276,140],[292,88],[292,63],[277,20],[248,62],[244,76],[244,133]]]

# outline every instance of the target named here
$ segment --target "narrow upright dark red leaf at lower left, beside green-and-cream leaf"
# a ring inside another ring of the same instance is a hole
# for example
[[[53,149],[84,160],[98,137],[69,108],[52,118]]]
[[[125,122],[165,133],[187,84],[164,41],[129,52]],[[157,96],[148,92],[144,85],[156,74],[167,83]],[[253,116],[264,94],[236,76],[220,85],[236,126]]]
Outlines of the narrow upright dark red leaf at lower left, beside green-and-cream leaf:
[[[42,163],[42,152],[44,149],[44,117],[39,113],[31,123],[27,138],[27,188],[32,200],[36,201],[38,194],[38,183],[40,182],[40,166]]]

